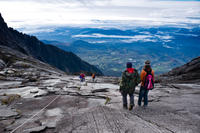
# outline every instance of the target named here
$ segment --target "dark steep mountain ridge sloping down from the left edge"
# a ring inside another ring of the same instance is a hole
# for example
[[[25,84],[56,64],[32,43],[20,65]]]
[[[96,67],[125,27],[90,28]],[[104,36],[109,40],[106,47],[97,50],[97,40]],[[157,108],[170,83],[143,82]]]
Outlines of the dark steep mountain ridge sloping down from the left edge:
[[[13,28],[8,28],[0,14],[0,45],[20,51],[32,56],[40,61],[48,63],[67,73],[78,73],[81,71],[88,73],[102,72],[93,65],[81,60],[72,52],[63,51],[52,45],[45,45],[35,36],[20,33]]]

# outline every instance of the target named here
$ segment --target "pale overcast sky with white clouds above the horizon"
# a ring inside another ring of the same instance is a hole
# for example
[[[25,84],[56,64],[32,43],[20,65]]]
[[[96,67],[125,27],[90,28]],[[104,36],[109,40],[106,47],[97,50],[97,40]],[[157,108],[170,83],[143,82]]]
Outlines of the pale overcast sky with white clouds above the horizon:
[[[200,24],[195,0],[0,0],[9,26]]]

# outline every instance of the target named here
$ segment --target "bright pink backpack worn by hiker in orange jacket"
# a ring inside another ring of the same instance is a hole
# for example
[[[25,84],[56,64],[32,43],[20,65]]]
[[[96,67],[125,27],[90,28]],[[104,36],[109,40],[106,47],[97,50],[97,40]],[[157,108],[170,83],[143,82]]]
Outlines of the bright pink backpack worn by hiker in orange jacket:
[[[154,79],[151,71],[147,72],[144,82],[144,88],[147,90],[152,90],[154,88]]]

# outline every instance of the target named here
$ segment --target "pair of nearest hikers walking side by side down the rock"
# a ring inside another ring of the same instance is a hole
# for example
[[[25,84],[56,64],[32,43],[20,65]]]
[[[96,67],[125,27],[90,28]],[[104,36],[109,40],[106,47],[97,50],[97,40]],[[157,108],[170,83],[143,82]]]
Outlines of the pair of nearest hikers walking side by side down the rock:
[[[122,80],[120,84],[120,92],[123,99],[123,108],[128,109],[127,95],[130,97],[129,110],[132,110],[134,104],[134,92],[135,87],[141,82],[138,106],[141,106],[142,99],[144,98],[144,107],[148,105],[148,92],[154,88],[154,71],[151,68],[150,61],[145,61],[144,68],[139,76],[138,71],[132,68],[132,63],[126,64],[126,70],[122,74]]]

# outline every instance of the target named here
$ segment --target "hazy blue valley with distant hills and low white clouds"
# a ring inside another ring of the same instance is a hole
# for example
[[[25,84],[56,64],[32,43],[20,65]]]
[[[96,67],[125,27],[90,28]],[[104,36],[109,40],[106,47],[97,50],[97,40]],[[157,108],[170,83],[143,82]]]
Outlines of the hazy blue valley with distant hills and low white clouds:
[[[32,34],[45,44],[75,53],[106,76],[121,76],[127,62],[141,71],[151,60],[155,73],[162,74],[200,56],[199,26],[189,27],[54,27]]]

